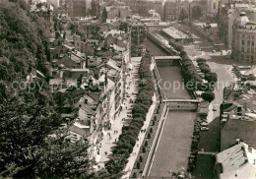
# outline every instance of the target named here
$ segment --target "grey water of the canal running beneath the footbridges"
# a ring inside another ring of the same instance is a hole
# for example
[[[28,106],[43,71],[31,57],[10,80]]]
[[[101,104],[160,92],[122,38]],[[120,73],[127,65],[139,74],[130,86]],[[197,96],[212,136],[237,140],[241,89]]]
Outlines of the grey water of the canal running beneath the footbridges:
[[[147,48],[155,56],[166,56],[150,40],[147,41]],[[181,69],[177,65],[168,61],[158,61],[157,66],[162,89],[167,98],[191,98],[184,88]],[[179,84],[180,88],[174,84]],[[191,111],[168,112],[151,165],[150,178],[170,177],[173,171],[187,167],[195,117],[196,112]]]

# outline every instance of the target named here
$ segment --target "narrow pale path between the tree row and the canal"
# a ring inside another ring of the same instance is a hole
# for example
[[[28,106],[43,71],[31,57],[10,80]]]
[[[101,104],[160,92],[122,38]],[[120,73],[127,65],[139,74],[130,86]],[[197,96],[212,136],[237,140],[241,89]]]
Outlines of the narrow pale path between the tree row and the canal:
[[[157,105],[158,101],[157,101],[157,96],[156,96],[156,93],[154,93],[153,95],[153,104],[151,105],[150,109],[149,109],[149,112],[146,116],[146,121],[144,122],[144,126],[142,127],[142,130],[144,129],[148,129],[149,125],[150,125],[150,122],[151,122],[151,119],[152,119],[152,116],[154,114],[154,109],[156,108],[156,105]],[[128,159],[128,163],[126,164],[126,167],[124,169],[125,172],[127,172],[125,175],[122,176],[122,178],[129,178],[130,175],[131,175],[131,171],[133,169],[133,166],[135,164],[135,161],[136,161],[136,158],[138,156],[138,154],[140,153],[140,149],[141,149],[141,146],[142,146],[142,143],[144,141],[144,138],[145,138],[145,135],[146,133],[144,132],[141,132],[138,136],[138,139],[139,141],[137,141],[135,147],[133,148],[133,152],[131,153],[129,159]]]

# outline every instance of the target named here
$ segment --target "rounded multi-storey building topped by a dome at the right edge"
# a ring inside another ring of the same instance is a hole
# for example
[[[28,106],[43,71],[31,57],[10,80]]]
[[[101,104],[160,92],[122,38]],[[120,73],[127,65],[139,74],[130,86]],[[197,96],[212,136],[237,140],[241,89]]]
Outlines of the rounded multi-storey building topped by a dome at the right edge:
[[[253,63],[256,58],[256,23],[240,13],[232,27],[232,57],[238,61]]]

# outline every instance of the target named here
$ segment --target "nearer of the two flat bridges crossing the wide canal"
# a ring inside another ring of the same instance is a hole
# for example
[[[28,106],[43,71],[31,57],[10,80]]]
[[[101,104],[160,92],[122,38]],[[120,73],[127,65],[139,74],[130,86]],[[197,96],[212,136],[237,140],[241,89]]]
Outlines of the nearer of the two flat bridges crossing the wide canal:
[[[197,99],[163,99],[169,110],[197,110],[200,101]]]

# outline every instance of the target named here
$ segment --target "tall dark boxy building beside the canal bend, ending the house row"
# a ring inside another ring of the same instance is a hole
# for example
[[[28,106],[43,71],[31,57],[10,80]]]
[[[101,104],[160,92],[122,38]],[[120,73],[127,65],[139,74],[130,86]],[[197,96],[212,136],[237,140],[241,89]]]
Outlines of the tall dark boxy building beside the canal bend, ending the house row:
[[[147,30],[143,24],[132,24],[130,28],[131,56],[143,56],[146,52]]]

